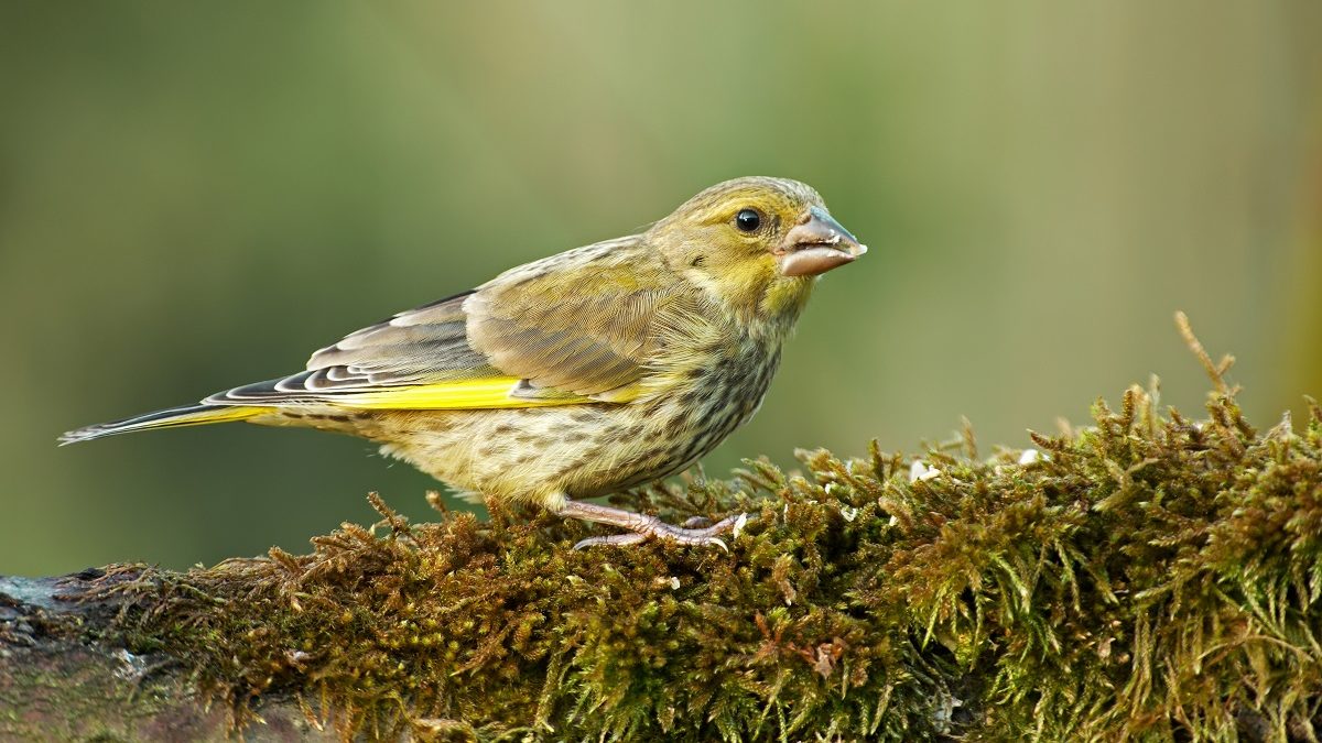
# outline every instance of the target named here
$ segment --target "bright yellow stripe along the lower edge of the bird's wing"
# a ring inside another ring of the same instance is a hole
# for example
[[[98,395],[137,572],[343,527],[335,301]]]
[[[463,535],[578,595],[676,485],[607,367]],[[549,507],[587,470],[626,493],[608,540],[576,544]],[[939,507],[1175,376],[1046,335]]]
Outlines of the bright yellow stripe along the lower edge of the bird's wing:
[[[488,377],[460,382],[435,382],[411,387],[387,387],[365,393],[337,394],[327,402],[361,410],[477,410],[494,407],[546,407],[598,402],[580,395],[522,398],[510,397],[518,377]]]

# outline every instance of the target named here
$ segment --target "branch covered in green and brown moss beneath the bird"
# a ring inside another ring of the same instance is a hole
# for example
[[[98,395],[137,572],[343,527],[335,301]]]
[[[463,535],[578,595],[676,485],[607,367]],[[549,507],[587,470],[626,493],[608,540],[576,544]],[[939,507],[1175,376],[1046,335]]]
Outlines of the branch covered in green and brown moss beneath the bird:
[[[1202,422],[1154,382],[1031,450],[617,498],[755,513],[730,554],[373,497],[305,555],[0,583],[0,736],[1317,740],[1322,409],[1256,431],[1181,325]]]

